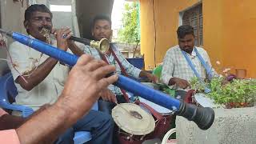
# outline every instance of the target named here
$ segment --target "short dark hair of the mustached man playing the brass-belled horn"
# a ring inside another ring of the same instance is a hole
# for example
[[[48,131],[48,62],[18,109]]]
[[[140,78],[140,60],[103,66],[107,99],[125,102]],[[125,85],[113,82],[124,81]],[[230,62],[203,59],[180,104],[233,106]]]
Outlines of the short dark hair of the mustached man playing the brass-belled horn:
[[[53,14],[50,12],[50,10],[43,4],[34,4],[28,7],[25,11],[25,21],[29,21],[32,14],[35,11],[43,12],[43,13],[49,13],[50,18],[53,18]]]

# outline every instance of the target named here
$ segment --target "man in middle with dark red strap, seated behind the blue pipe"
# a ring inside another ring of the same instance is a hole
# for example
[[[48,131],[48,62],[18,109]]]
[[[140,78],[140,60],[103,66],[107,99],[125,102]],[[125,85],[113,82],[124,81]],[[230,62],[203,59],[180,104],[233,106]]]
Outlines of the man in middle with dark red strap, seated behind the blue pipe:
[[[100,41],[102,38],[107,38],[110,41],[112,37],[110,18],[103,14],[94,17],[91,32],[94,40],[96,41]],[[80,51],[83,50],[81,51],[82,54],[90,54],[94,58],[102,59],[110,65],[115,66],[118,74],[127,74],[134,78],[148,78],[151,82],[156,82],[157,80],[153,74],[147,73],[144,70],[139,70],[135,66],[131,65],[118,50],[118,47],[113,43],[110,44],[110,50],[108,50],[106,54],[100,54],[98,50],[90,46],[81,45],[81,43],[77,43],[77,45],[79,46]],[[69,47],[72,51],[79,50],[74,42],[70,43]],[[120,63],[121,66],[118,63]],[[102,96],[104,101],[100,100],[98,104],[99,110],[110,114],[116,102],[126,102],[126,98],[124,98],[124,94],[126,94],[126,92],[113,85],[110,85],[108,88],[109,90],[104,91],[104,94],[102,94],[104,95]]]

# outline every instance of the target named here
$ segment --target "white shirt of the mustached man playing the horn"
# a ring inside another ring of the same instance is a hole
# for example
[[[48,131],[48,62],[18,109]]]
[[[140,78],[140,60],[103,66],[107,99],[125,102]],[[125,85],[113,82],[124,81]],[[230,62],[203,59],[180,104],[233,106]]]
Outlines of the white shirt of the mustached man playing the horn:
[[[32,37],[30,36],[30,38]],[[57,42],[53,42],[52,45],[57,46]],[[13,42],[10,45],[9,50],[10,56],[16,65],[15,68],[20,74],[23,74],[27,70],[30,71],[33,68],[36,68],[36,66],[39,66],[49,58],[46,54],[42,54],[41,52],[19,42]],[[7,58],[10,60],[9,55]],[[20,74],[14,70],[14,66],[10,62],[8,62],[8,65],[15,81]],[[46,103],[54,103],[63,90],[68,73],[69,67],[63,66],[58,62],[54,66],[54,69],[51,70],[50,74],[48,74],[47,77],[38,84],[38,86],[35,86],[30,91],[24,90],[22,86],[15,83],[18,90],[18,95],[15,98],[16,103],[19,105],[30,106],[34,110],[38,110],[40,106]]]

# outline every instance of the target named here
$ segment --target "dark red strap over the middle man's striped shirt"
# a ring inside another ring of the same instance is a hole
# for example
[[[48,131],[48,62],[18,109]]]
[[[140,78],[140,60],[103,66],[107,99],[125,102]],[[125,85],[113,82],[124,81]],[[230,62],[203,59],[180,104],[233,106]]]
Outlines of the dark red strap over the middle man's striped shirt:
[[[122,66],[122,63],[118,60],[118,57],[117,57],[117,55],[114,53],[114,50],[112,50],[111,47],[110,47],[109,50],[110,50],[110,53],[113,54],[114,60],[115,60],[116,62],[118,62],[118,65],[120,66],[120,69],[121,69],[121,71],[122,71],[122,74],[124,74],[126,77],[128,77],[128,74],[126,73],[126,70],[125,70],[124,67]],[[100,52],[99,52],[99,53],[100,53]],[[106,56],[105,56],[104,54],[100,53],[100,55],[101,55],[103,61],[105,61],[107,64],[110,64],[110,63],[107,61]],[[128,95],[126,94],[126,90],[123,90],[123,89],[120,89],[120,90],[121,90],[121,92],[122,92],[122,95],[123,95],[124,98],[126,99],[126,102],[130,102],[130,101],[129,101],[129,97],[128,97]]]

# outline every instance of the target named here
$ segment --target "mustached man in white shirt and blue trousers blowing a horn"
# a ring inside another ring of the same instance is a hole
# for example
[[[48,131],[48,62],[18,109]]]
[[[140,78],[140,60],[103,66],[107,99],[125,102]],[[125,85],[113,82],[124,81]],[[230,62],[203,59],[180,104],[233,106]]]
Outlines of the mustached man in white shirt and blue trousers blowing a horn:
[[[36,38],[62,50],[68,50],[67,39],[72,35],[71,30],[69,28],[52,29],[52,13],[46,6],[32,5],[28,7],[25,11],[24,26],[30,38]],[[56,35],[57,42],[49,35],[42,34],[42,28],[51,30]],[[18,89],[18,95],[15,98],[17,104],[38,110],[45,104],[53,104],[57,101],[69,74],[68,66],[63,66],[58,60],[19,42],[10,45],[8,58],[9,60],[12,58],[12,62],[14,62],[14,65],[10,63],[11,61],[8,65]],[[113,127],[114,121],[109,114],[90,110],[86,116],[66,130],[56,143],[73,143],[75,131],[90,131],[92,137],[90,143],[111,144]]]

